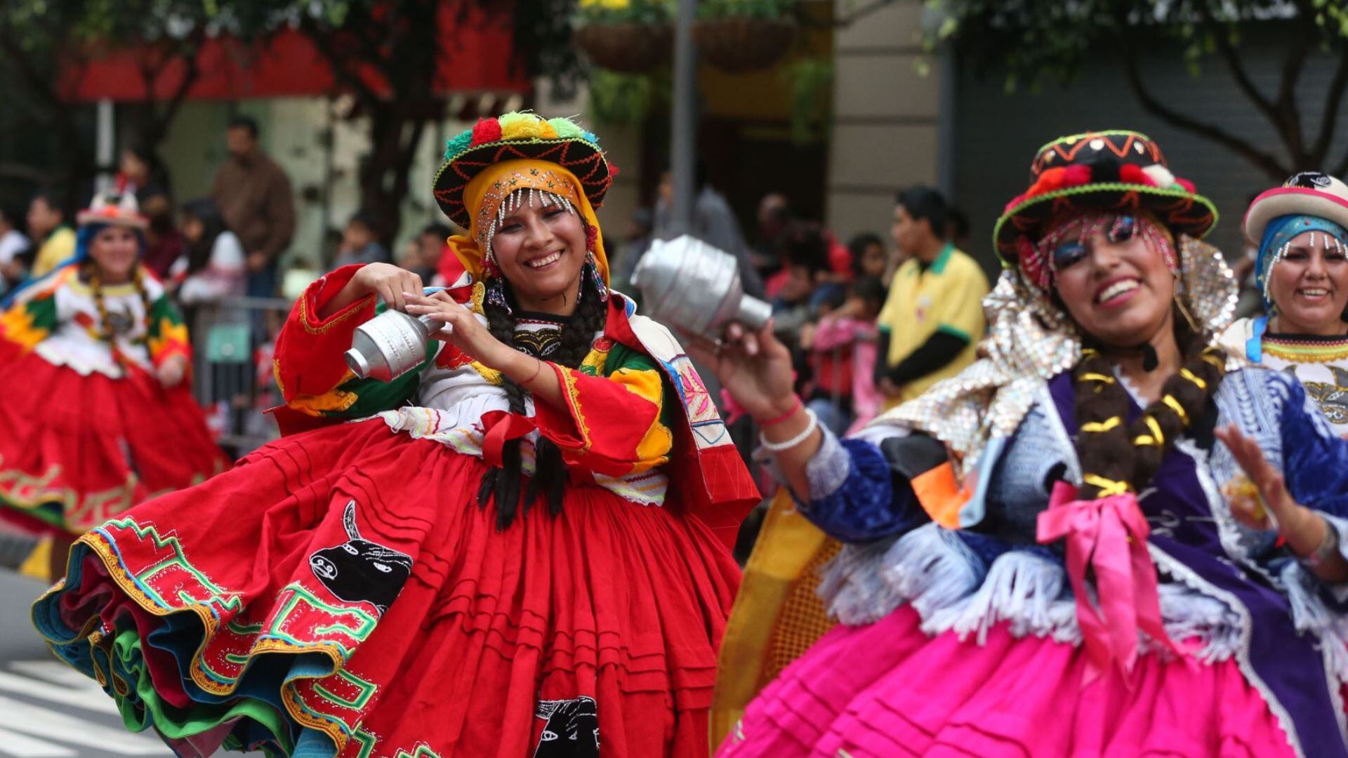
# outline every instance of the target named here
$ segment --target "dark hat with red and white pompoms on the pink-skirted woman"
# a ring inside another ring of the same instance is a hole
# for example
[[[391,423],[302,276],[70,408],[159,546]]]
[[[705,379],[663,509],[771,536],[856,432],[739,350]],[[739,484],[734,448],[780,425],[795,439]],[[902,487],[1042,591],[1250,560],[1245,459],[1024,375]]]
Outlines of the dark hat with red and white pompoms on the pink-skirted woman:
[[[1217,208],[1193,182],[1170,173],[1161,146],[1130,131],[1086,132],[1045,144],[1030,166],[1030,189],[1007,204],[992,231],[1006,267],[1018,263],[1018,240],[1034,243],[1050,221],[1088,210],[1147,212],[1175,235],[1201,239]]]

